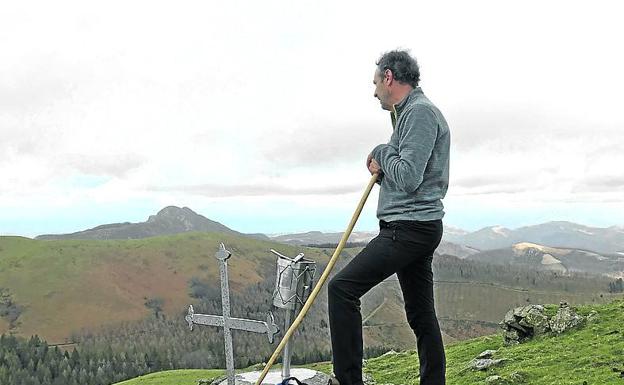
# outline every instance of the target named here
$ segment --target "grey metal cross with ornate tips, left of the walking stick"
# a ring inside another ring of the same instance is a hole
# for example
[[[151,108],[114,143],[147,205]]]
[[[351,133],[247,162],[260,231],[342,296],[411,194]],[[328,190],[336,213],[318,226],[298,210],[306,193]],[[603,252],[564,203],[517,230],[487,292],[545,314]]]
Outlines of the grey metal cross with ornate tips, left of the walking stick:
[[[230,317],[230,288],[228,284],[227,260],[232,253],[225,249],[225,245],[221,243],[219,251],[215,257],[219,260],[219,272],[221,274],[221,302],[223,304],[223,315],[195,314],[193,305],[189,306],[186,321],[189,328],[193,330],[195,325],[218,326],[223,328],[223,336],[225,339],[225,367],[227,369],[228,385],[234,385],[234,349],[232,347],[232,329],[245,330],[254,333],[266,333],[269,343],[273,343],[273,338],[279,332],[272,313],[268,313],[266,322],[249,320],[243,318]]]

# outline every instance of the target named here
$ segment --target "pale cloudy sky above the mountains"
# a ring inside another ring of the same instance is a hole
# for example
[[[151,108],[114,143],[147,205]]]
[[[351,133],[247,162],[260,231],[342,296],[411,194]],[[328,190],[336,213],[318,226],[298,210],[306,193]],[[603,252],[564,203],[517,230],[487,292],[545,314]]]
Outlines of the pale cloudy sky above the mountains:
[[[167,205],[244,232],[343,230],[391,133],[372,76],[394,48],[451,127],[445,224],[624,225],[620,15],[616,1],[3,2],[0,234]]]

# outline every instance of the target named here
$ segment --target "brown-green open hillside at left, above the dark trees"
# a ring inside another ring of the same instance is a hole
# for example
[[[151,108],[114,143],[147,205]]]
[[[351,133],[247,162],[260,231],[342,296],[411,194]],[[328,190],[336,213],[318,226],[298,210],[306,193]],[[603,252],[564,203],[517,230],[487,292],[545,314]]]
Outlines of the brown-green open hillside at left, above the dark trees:
[[[230,289],[260,280],[275,264],[269,250],[296,255],[301,248],[248,237],[185,233],[137,240],[33,240],[0,237],[0,287],[8,288],[21,315],[11,332],[63,342],[72,332],[95,329],[150,314],[149,298],[161,298],[165,314],[178,316],[190,304],[191,277],[218,285],[214,254],[219,242],[232,251]],[[327,253],[307,249],[319,264]],[[9,331],[0,322],[0,333]]]

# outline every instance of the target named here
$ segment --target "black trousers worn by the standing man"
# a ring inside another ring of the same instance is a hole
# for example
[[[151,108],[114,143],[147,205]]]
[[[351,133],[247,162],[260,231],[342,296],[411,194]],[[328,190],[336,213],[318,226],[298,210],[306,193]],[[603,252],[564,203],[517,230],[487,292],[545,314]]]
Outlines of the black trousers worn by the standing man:
[[[416,334],[421,385],[444,385],[446,358],[433,300],[433,252],[442,220],[380,222],[380,232],[329,282],[334,374],[340,385],[362,385],[360,297],[396,273],[407,321]]]

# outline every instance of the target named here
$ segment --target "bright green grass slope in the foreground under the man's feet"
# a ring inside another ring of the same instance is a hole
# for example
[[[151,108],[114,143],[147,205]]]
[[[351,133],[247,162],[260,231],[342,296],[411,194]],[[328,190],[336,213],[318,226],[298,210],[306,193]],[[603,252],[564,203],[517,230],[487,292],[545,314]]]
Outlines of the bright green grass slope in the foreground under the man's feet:
[[[507,381],[499,384],[622,384],[624,301],[578,307],[579,313],[584,316],[592,310],[598,312],[596,318],[579,329],[559,336],[541,336],[521,345],[503,346],[502,337],[492,335],[447,346],[447,384],[485,384],[485,379],[493,375]],[[470,361],[487,349],[497,350],[494,358],[508,361],[487,371],[467,369]],[[324,372],[331,370],[328,363],[308,367]],[[405,351],[370,359],[366,362],[365,371],[378,384],[418,384],[417,353]],[[191,373],[164,372],[162,376],[153,374],[151,376],[154,377],[145,376],[120,384],[193,385],[200,377]]]

